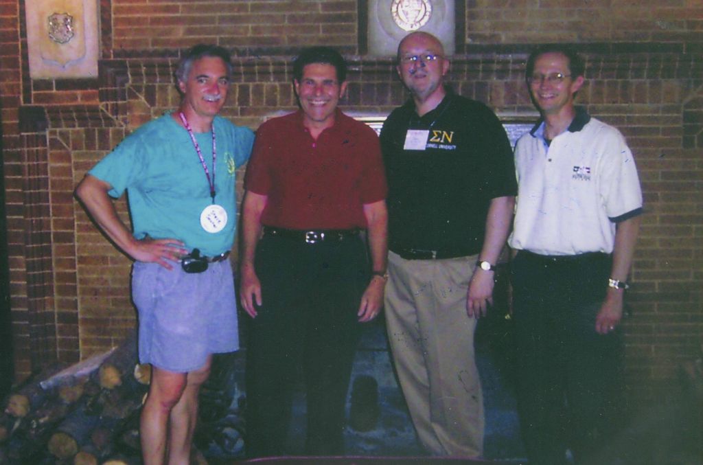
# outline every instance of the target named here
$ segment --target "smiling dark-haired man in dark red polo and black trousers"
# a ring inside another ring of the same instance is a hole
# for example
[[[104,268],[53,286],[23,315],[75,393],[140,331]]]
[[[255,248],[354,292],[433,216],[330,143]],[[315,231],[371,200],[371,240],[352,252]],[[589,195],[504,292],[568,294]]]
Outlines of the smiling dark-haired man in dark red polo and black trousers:
[[[253,319],[250,457],[285,452],[298,362],[307,387],[306,452],[344,453],[356,343],[382,307],[387,186],[375,132],[337,109],[346,73],[337,51],[305,49],[293,66],[301,109],[259,127],[247,167],[240,299]]]

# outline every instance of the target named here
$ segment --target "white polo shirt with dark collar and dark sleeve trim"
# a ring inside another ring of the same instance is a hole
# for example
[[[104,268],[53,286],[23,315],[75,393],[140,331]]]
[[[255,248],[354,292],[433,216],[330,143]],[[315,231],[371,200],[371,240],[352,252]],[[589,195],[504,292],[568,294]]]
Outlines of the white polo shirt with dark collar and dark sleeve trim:
[[[540,255],[612,253],[617,222],[642,212],[635,160],[620,132],[577,109],[548,145],[544,123],[515,146],[510,247]]]

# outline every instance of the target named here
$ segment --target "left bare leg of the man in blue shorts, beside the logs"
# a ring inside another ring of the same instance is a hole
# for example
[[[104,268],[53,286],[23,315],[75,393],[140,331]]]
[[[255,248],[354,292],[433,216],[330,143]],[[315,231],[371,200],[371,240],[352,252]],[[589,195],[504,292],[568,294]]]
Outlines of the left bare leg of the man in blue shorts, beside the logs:
[[[153,367],[149,395],[141,411],[139,432],[145,465],[162,465],[165,461],[169,414],[186,388],[186,373],[174,373]]]

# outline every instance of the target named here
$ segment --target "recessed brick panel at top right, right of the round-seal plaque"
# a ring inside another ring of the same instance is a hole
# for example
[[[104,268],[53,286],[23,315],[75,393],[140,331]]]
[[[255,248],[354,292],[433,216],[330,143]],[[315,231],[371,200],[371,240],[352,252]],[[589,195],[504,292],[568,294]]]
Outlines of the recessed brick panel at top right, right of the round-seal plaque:
[[[469,0],[468,44],[700,42],[698,0]]]

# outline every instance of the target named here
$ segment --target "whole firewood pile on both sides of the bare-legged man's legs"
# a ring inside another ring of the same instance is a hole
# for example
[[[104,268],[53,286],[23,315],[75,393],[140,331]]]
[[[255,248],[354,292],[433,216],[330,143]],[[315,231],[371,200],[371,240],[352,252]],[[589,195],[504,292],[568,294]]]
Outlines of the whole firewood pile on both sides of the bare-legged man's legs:
[[[225,357],[226,360],[226,357]],[[196,445],[230,457],[243,451],[243,421],[229,408],[233,366],[214,363],[202,388]],[[56,364],[13,389],[0,412],[0,464],[139,464],[139,414],[151,367],[137,362],[136,336],[72,367]],[[193,463],[207,463],[194,452]]]

